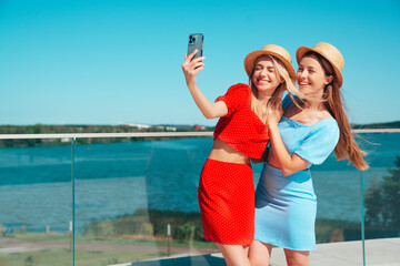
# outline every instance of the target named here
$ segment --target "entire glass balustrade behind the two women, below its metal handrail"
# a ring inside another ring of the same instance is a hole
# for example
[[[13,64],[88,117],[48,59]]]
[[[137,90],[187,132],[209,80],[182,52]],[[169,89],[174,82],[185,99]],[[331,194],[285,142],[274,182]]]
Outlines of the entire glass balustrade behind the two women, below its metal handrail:
[[[400,134],[360,136],[370,170],[334,155],[311,168],[317,244],[351,246],[338,256],[354,265],[388,252],[370,239],[400,232]],[[0,265],[134,265],[218,253],[203,239],[197,202],[211,137],[26,142],[0,140]],[[253,165],[254,185],[261,170]]]

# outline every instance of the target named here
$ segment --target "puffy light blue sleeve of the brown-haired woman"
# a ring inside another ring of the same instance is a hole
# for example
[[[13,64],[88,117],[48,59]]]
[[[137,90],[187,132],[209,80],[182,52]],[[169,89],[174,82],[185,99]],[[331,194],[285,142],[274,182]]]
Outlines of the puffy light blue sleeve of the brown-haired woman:
[[[321,164],[333,152],[338,141],[338,123],[333,119],[326,119],[310,131],[309,135],[293,153],[311,164]]]

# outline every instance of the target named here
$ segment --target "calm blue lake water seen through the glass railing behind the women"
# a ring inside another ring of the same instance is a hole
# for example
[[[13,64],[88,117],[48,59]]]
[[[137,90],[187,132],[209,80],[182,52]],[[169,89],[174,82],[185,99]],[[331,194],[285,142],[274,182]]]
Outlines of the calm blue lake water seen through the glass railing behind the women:
[[[364,188],[400,155],[400,134],[362,134],[371,170]],[[199,212],[197,187],[210,137],[76,146],[78,231],[90,219],[138,208]],[[257,184],[262,165],[253,165]],[[311,168],[318,216],[360,219],[360,172],[330,156]],[[72,219],[71,146],[0,150],[0,223],[68,231]]]

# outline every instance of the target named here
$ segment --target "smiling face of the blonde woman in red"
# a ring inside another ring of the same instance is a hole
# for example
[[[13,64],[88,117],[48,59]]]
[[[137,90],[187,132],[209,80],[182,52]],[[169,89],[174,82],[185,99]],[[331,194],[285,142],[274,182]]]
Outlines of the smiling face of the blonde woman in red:
[[[262,55],[257,59],[251,81],[259,93],[272,95],[281,80],[270,57]]]

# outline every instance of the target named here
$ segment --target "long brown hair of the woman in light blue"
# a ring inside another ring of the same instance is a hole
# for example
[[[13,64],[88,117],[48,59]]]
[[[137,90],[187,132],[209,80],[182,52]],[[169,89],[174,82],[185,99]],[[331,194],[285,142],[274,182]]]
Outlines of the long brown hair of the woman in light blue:
[[[334,75],[333,66],[322,55],[312,51],[306,53],[303,58],[312,55],[317,58],[326,75],[333,75],[332,82],[323,89],[323,104],[337,121],[340,130],[339,142],[334,147],[334,154],[338,160],[349,158],[358,170],[367,170],[369,166],[363,160],[367,153],[360,150],[351,133],[351,125],[344,112],[343,96],[339,90],[340,85]]]

